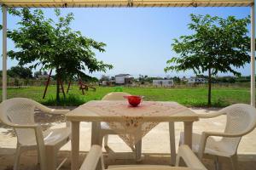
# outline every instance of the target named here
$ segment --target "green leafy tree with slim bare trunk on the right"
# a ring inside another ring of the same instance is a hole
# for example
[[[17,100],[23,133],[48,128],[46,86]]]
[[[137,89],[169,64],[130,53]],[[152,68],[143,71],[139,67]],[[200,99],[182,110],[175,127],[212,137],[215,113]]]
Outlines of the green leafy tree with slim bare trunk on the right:
[[[179,57],[167,61],[165,71],[192,70],[196,75],[207,72],[208,77],[208,106],[211,105],[212,76],[218,72],[231,72],[236,76],[240,68],[250,62],[247,24],[249,18],[227,19],[209,14],[191,14],[192,23],[189,29],[194,34],[174,39],[172,49]]]

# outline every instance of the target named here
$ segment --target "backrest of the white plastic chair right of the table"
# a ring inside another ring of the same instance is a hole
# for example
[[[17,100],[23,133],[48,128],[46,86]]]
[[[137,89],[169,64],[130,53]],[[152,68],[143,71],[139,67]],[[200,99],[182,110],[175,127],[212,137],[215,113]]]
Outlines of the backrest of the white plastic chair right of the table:
[[[227,116],[224,133],[239,134],[236,138],[224,137],[221,141],[228,144],[229,148],[236,153],[241,137],[253,131],[256,126],[256,109],[251,105],[230,105],[221,110]]]

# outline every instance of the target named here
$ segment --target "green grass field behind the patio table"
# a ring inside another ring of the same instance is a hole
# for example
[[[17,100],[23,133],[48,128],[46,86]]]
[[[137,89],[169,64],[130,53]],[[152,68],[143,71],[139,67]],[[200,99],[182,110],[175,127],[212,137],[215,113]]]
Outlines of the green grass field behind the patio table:
[[[102,99],[113,92],[114,87],[97,87],[82,95],[77,86],[73,86],[66,99],[61,98],[60,105],[81,105],[93,99]],[[144,100],[177,101],[187,106],[207,106],[207,88],[123,88],[129,94],[143,95]],[[2,94],[2,90],[0,90]],[[44,87],[9,88],[8,98],[26,97],[35,99],[44,105],[56,105],[55,86],[49,86],[46,98],[42,99]],[[62,96],[62,94],[61,94]],[[2,97],[1,97],[2,99]],[[250,102],[249,88],[212,88],[212,106],[222,107],[235,103]]]

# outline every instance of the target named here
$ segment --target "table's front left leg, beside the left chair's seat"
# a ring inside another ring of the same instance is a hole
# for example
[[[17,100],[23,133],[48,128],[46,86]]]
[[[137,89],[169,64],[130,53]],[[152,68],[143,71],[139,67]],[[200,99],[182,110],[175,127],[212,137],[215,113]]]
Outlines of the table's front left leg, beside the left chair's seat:
[[[71,169],[79,170],[79,124],[71,122]]]

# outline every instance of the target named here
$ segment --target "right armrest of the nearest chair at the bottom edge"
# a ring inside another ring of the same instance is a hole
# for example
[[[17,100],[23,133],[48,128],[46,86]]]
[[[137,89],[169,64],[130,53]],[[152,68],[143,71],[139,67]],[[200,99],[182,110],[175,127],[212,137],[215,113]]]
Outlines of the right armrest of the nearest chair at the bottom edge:
[[[189,148],[188,145],[181,145],[177,151],[177,160],[176,166],[178,167],[178,163],[180,158],[183,158],[187,167],[192,169],[200,169],[200,170],[207,170],[207,168],[201,163],[201,161],[195,156],[193,151]]]

